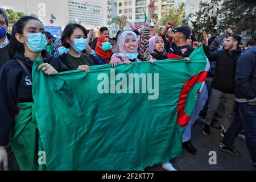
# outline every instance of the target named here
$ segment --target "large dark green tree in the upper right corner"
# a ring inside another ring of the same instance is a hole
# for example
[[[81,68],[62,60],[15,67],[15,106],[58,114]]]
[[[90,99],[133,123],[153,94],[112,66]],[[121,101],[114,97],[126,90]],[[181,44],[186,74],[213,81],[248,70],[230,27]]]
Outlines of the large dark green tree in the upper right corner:
[[[223,2],[221,6],[217,6]],[[210,11],[216,5],[216,14]],[[256,30],[256,2],[251,0],[212,0],[211,3],[200,2],[200,10],[190,15],[193,32],[199,34],[206,31],[210,35],[224,33],[228,28],[237,35],[250,36]]]

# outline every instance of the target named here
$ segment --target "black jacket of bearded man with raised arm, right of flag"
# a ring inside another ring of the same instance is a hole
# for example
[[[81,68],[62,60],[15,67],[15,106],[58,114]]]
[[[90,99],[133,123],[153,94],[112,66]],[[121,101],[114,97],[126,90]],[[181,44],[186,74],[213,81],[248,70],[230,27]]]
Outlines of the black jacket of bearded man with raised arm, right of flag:
[[[204,46],[204,52],[209,61],[216,61],[212,88],[224,93],[234,94],[236,64],[241,55],[241,50],[228,51],[222,49],[216,53],[210,53],[209,46]]]

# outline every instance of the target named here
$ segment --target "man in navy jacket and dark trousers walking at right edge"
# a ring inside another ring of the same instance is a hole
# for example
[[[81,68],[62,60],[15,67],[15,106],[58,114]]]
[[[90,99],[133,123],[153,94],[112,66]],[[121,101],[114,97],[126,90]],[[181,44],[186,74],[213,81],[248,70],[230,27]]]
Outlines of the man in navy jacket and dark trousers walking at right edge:
[[[244,129],[247,148],[256,169],[256,30],[253,34],[253,46],[246,49],[237,61],[235,94],[237,115],[226,131],[220,150],[240,156],[232,144]]]

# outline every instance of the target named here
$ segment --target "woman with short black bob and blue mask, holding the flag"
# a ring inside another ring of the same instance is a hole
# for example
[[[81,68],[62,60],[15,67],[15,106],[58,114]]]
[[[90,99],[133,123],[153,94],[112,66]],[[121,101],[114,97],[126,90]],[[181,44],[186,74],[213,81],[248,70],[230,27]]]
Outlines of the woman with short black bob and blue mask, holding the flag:
[[[81,69],[88,72],[89,66],[95,65],[93,58],[83,53],[87,46],[86,38],[87,31],[80,24],[70,23],[65,27],[61,43],[65,48],[69,48],[69,51],[58,58],[69,70]]]

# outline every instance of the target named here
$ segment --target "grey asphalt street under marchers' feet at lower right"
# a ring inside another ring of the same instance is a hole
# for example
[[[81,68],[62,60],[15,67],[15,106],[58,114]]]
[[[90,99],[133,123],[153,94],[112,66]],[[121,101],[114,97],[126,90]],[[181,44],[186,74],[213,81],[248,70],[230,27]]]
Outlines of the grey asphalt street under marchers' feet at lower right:
[[[221,105],[218,109],[218,113],[222,115],[221,119],[218,119],[220,124],[224,122],[224,106]],[[220,170],[220,171],[251,171],[254,170],[253,163],[250,159],[249,151],[247,150],[245,139],[237,137],[234,143],[237,150],[241,152],[242,156],[234,156],[227,152],[220,151],[218,148],[222,140],[221,131],[214,127],[210,127],[210,136],[203,134],[203,120],[197,119],[195,124],[192,126],[192,143],[197,149],[196,155],[191,155],[185,148],[183,148],[182,155],[172,159],[172,165],[181,171],[209,171],[209,170]],[[217,153],[217,164],[210,165],[208,163],[210,156],[209,151],[216,151]],[[155,165],[148,167],[146,170],[162,171],[162,165]]]

